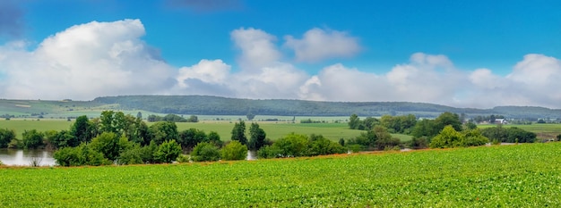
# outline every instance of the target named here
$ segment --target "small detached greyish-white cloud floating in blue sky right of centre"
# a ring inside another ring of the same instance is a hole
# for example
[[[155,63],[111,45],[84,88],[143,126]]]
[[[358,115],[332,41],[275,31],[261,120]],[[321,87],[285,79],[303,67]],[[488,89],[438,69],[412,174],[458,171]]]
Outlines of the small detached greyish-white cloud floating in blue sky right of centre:
[[[302,39],[284,37],[284,46],[294,50],[298,62],[318,62],[328,58],[350,57],[358,54],[360,46],[357,37],[337,30],[310,29]]]

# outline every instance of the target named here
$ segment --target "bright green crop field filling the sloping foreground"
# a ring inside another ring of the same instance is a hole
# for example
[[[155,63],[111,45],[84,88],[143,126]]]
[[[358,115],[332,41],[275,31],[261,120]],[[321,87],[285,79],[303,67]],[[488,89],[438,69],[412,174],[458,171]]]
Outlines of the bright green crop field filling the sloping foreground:
[[[0,168],[1,207],[560,207],[561,143]]]

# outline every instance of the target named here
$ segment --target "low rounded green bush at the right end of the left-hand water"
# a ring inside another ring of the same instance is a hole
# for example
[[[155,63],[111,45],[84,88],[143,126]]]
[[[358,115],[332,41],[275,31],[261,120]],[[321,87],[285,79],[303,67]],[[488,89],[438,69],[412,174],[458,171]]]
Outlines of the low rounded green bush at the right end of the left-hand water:
[[[98,166],[111,163],[103,157],[103,154],[85,144],[76,147],[63,147],[56,151],[53,157],[60,166]]]

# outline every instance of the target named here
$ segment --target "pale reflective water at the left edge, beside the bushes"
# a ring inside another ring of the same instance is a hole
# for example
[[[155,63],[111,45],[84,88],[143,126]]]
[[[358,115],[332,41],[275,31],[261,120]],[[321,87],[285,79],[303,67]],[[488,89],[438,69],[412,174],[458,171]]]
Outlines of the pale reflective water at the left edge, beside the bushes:
[[[0,161],[5,165],[30,166],[33,160],[37,160],[40,166],[52,166],[56,164],[53,158],[53,151],[42,149],[0,149]]]

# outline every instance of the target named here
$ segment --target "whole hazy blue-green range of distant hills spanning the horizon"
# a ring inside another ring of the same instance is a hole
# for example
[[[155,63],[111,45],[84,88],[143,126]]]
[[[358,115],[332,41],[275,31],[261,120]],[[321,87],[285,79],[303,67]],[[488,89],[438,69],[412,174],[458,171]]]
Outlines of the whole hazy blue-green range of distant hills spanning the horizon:
[[[318,102],[286,99],[239,99],[220,96],[103,96],[92,101],[42,101],[0,99],[0,116],[50,117],[99,115],[104,110],[175,113],[185,115],[278,116],[382,116],[414,114],[434,118],[442,112],[465,113],[468,117],[504,115],[509,119],[561,119],[561,110],[533,106],[498,106],[492,109],[455,108],[440,104],[410,102]]]

